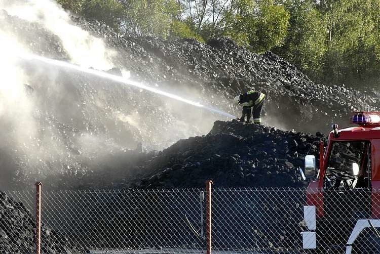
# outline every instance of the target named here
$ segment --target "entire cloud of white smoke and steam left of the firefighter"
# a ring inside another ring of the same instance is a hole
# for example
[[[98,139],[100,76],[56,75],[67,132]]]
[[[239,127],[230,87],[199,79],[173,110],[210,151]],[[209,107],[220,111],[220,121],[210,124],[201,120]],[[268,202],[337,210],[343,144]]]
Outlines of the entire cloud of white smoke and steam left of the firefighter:
[[[38,38],[18,27],[0,26],[0,186],[10,181],[9,173],[20,168],[31,173],[41,169],[51,170],[52,174],[76,172],[84,167],[96,168],[97,162],[108,154],[133,149],[138,142],[148,144],[148,149],[162,149],[178,139],[207,133],[216,120],[215,114],[202,110],[199,103],[195,107],[162,97],[165,93],[136,93],[133,86],[110,88],[99,77],[77,75],[78,70],[71,72],[32,59],[21,61],[17,56],[44,53],[47,49],[54,56],[60,55],[53,47],[60,44],[62,55],[69,56],[70,63],[106,70],[114,67],[111,59],[116,52],[108,49],[102,39],[75,26],[69,14],[53,1],[0,0],[1,9],[37,24],[38,29],[30,33],[43,27],[56,38]],[[0,22],[1,19],[0,12]],[[127,78],[130,75],[124,70],[122,73]],[[32,95],[24,83],[32,85]],[[195,89],[180,90],[176,91],[178,95],[185,94],[186,98],[205,96]],[[151,87],[150,91],[156,88]],[[16,162],[4,156],[15,158]]]

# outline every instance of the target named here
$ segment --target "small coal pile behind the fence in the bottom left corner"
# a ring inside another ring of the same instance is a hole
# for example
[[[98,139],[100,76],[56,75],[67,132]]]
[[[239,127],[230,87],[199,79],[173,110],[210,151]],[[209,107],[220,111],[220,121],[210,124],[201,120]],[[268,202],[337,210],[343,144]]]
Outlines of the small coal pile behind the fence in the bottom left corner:
[[[35,222],[21,202],[0,192],[0,253],[35,253]],[[42,226],[41,253],[85,253],[65,236]]]

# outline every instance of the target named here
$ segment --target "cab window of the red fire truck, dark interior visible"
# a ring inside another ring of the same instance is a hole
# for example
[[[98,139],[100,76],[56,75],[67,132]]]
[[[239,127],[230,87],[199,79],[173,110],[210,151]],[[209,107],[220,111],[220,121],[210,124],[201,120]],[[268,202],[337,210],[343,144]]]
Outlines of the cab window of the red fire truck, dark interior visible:
[[[327,163],[325,188],[368,188],[369,148],[369,141],[334,142]]]

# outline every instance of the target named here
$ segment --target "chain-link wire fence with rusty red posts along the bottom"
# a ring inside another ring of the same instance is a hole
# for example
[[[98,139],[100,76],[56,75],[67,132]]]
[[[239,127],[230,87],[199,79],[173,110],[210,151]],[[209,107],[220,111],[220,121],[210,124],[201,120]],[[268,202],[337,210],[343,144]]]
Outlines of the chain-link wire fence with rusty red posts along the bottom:
[[[213,188],[211,193],[213,253],[346,253],[356,231],[351,253],[380,253],[375,229],[380,223],[368,222],[380,214],[371,190],[328,190],[322,198],[288,188]],[[23,202],[14,202],[19,207],[13,213],[28,208],[34,214],[35,192],[6,195]],[[206,195],[206,189],[42,191],[42,253],[206,253]],[[308,226],[310,218],[304,220],[307,203],[317,204],[315,229]],[[373,227],[355,228],[360,223]],[[30,225],[18,230],[30,231]],[[303,249],[301,232],[315,232],[315,249]],[[0,244],[2,237],[0,230]],[[54,252],[52,237],[72,248]],[[8,241],[15,250],[30,243],[17,241]],[[35,253],[28,251],[4,253]]]

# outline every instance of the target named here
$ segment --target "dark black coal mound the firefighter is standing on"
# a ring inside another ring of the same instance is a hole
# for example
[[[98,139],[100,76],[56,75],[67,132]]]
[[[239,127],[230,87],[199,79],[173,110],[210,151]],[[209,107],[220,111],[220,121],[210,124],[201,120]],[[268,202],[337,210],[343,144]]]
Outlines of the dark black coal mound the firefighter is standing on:
[[[319,158],[325,136],[284,132],[237,120],[216,121],[202,137],[180,140],[159,153],[141,170],[153,172],[140,188],[302,187],[298,167],[305,155]]]

